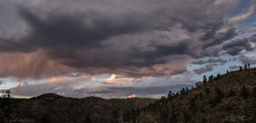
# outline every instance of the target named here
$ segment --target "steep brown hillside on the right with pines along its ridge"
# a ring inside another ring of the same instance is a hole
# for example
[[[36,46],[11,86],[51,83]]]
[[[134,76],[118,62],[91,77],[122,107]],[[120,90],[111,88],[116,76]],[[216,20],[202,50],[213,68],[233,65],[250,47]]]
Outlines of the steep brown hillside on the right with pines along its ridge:
[[[256,69],[210,77],[191,90],[168,94],[126,122],[256,122]]]

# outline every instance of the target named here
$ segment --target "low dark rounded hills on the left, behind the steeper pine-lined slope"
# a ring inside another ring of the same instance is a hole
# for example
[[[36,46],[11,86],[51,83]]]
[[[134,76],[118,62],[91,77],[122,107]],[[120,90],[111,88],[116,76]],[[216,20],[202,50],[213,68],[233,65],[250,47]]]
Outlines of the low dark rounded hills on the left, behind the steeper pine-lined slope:
[[[119,122],[123,112],[154,101],[151,98],[64,98],[53,93],[30,99],[2,98],[0,122]]]

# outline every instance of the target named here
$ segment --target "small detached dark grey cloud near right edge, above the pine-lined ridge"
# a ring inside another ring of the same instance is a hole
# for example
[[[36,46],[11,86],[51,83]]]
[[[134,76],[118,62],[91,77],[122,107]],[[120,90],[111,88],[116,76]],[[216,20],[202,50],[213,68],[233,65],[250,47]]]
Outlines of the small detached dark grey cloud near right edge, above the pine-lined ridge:
[[[232,56],[240,54],[242,51],[252,51],[253,48],[247,38],[236,39],[225,43],[222,47],[226,52]]]

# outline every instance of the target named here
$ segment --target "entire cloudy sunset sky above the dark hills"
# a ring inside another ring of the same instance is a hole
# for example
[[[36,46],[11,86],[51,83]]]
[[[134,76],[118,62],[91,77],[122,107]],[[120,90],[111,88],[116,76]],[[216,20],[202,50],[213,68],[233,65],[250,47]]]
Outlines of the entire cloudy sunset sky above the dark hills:
[[[159,98],[256,66],[254,0],[0,0],[0,90]]]

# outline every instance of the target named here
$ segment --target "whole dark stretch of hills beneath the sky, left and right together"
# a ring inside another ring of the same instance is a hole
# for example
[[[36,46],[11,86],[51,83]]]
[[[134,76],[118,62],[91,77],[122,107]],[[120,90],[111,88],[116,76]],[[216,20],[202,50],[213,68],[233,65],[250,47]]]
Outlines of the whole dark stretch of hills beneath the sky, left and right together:
[[[256,69],[209,76],[195,88],[160,99],[0,99],[0,122],[218,123],[256,122]]]

